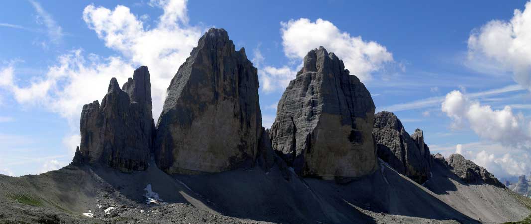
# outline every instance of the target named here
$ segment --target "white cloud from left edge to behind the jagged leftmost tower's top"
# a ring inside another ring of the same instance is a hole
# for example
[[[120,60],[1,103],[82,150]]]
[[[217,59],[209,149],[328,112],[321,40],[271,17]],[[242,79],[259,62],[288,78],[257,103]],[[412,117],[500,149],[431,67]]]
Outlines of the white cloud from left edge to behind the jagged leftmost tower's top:
[[[15,71],[12,64],[0,70],[0,80],[7,77],[0,87],[11,90],[19,103],[44,106],[76,128],[82,106],[101,100],[111,77],[125,82],[134,68],[118,57],[91,57],[87,61],[78,49],[59,56],[56,65],[50,66],[44,76],[33,77],[27,86],[14,81]]]

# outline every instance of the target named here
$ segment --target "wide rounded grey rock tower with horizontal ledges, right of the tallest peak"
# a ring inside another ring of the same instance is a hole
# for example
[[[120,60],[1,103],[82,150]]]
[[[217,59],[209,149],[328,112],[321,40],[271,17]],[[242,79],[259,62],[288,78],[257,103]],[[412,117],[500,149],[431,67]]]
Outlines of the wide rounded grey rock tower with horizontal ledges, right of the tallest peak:
[[[303,176],[359,177],[377,168],[374,103],[326,49],[311,50],[278,103],[272,147]]]

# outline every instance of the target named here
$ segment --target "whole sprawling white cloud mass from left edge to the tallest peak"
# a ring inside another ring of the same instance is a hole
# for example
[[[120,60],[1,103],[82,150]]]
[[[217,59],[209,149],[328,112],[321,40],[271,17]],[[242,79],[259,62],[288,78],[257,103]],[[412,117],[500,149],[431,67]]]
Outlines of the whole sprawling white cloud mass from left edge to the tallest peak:
[[[46,74],[32,77],[28,85],[16,82],[15,66],[10,63],[0,70],[0,87],[11,90],[18,102],[44,105],[75,126],[83,104],[101,100],[111,77],[125,82],[135,67],[147,65],[151,73],[153,116],[157,119],[170,80],[201,36],[199,28],[186,25],[185,3],[152,1],[164,13],[157,27],[150,30],[125,6],[109,10],[89,5],[83,10],[83,20],[105,46],[122,56],[101,57],[76,49],[59,56]]]

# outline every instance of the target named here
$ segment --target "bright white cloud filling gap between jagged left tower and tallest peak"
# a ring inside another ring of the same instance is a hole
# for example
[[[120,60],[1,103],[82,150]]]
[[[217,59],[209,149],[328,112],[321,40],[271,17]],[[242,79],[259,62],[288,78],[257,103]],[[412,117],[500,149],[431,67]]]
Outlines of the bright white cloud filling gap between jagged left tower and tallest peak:
[[[105,46],[117,50],[128,63],[149,67],[153,116],[157,119],[170,81],[202,32],[187,25],[186,1],[151,1],[150,5],[164,10],[153,29],[145,28],[140,18],[121,5],[114,10],[89,5],[83,10],[83,20],[104,40]]]

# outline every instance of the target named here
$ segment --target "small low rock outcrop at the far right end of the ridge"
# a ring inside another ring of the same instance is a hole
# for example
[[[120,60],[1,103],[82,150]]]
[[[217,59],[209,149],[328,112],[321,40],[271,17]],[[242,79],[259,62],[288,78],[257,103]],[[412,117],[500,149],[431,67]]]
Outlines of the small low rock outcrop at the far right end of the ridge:
[[[460,154],[451,154],[446,160],[452,173],[469,184],[486,183],[504,188],[505,186],[489,171],[477,166],[473,161],[465,159]]]

